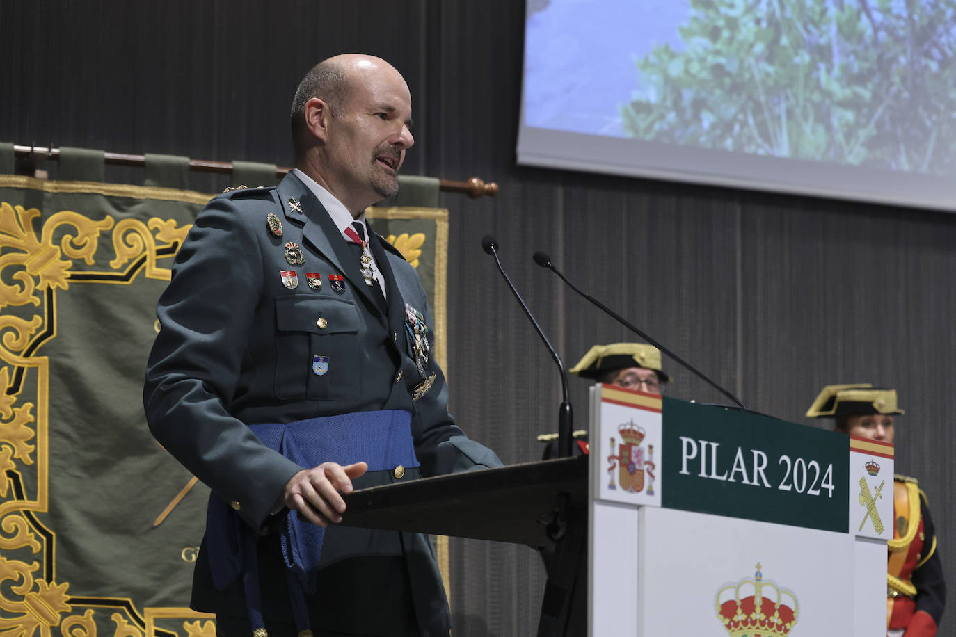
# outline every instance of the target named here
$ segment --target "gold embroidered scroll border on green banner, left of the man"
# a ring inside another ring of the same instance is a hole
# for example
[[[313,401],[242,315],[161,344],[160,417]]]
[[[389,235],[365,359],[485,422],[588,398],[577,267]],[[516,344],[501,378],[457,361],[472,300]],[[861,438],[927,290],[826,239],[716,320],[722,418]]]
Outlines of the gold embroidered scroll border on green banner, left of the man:
[[[113,637],[142,637],[137,625],[143,620],[128,601],[71,597],[70,584],[55,580],[54,533],[36,517],[48,510],[49,498],[49,361],[38,351],[56,335],[51,317],[58,290],[71,282],[128,283],[140,272],[168,280],[170,270],[158,259],[175,254],[191,226],[155,218],[116,223],[109,215],[94,221],[71,210],[54,213],[37,229],[41,220],[37,208],[0,202],[0,633],[97,637],[94,608],[71,614],[93,605],[113,610]],[[96,265],[101,235],[111,230],[116,256],[109,269],[77,268],[78,262]],[[28,374],[33,383],[25,381]],[[196,627],[190,634],[203,634],[205,626]]]

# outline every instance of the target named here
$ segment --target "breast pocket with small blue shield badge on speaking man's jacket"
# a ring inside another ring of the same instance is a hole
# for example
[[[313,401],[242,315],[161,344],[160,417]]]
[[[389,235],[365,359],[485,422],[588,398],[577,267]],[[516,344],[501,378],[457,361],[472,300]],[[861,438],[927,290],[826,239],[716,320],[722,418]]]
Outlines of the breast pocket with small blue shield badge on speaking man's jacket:
[[[345,299],[275,300],[275,395],[358,400],[359,308]]]

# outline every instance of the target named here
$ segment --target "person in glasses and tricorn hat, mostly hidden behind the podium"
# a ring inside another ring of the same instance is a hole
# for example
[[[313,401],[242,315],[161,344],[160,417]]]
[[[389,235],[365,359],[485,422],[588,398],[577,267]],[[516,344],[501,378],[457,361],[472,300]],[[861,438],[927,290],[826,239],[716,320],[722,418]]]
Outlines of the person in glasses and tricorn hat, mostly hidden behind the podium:
[[[661,350],[644,343],[611,343],[596,345],[569,370],[581,378],[599,383],[617,385],[626,390],[660,394],[670,377],[661,369]],[[575,456],[587,453],[586,432],[575,432]],[[549,443],[544,459],[557,456],[556,434],[539,435],[538,440]]]

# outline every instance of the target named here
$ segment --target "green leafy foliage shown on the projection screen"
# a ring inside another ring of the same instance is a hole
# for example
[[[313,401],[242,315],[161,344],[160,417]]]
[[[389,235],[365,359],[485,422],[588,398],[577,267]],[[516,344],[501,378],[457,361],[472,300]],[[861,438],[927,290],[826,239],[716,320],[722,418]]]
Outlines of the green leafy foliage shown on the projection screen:
[[[689,0],[636,61],[628,135],[907,172],[956,169],[956,5]]]

